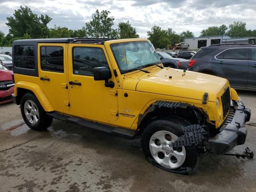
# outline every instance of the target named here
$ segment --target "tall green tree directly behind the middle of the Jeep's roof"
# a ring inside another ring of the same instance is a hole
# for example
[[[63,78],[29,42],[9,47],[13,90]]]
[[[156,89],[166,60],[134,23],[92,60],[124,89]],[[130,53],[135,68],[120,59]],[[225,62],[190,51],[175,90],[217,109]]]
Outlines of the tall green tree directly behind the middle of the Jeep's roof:
[[[97,9],[92,14],[92,20],[85,24],[86,34],[94,38],[116,38],[118,36],[117,30],[112,29],[114,25],[114,17],[109,17],[110,11]]]

